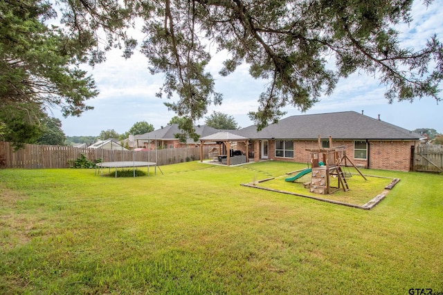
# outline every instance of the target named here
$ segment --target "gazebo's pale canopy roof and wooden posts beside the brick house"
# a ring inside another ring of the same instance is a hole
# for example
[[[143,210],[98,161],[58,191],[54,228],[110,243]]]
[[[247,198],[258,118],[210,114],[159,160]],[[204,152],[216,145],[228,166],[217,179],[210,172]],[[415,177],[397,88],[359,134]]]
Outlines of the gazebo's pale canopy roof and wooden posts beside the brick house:
[[[203,162],[203,146],[205,142],[216,142],[219,144],[219,156],[226,156],[226,164],[231,164],[232,155],[230,155],[231,142],[243,142],[246,146],[246,162],[248,159],[248,141],[249,138],[236,135],[229,132],[217,132],[200,138],[200,162]],[[226,154],[221,154],[221,151],[226,151]]]

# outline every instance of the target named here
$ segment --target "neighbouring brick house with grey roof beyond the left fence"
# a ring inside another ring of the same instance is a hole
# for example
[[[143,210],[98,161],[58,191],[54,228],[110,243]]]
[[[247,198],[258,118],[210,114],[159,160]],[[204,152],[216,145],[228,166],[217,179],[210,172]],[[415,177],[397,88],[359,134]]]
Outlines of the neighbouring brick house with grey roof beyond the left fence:
[[[219,132],[218,129],[205,125],[197,125],[194,126],[194,128],[195,133],[197,133],[199,137],[205,137]],[[145,149],[156,149],[156,146],[160,149],[178,149],[199,146],[199,142],[195,142],[192,138],[188,138],[186,142],[179,142],[179,139],[175,137],[177,133],[181,133],[179,125],[172,124],[149,133],[134,135],[134,144],[129,144],[130,146]]]

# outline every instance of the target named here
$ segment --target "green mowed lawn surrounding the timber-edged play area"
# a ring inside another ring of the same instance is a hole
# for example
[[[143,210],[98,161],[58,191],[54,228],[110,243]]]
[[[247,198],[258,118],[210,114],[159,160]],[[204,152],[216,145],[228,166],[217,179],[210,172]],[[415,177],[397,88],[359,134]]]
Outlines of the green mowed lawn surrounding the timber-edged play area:
[[[1,170],[0,293],[443,292],[443,175],[363,171],[401,178],[370,211],[239,185],[304,166]]]

